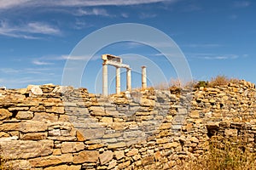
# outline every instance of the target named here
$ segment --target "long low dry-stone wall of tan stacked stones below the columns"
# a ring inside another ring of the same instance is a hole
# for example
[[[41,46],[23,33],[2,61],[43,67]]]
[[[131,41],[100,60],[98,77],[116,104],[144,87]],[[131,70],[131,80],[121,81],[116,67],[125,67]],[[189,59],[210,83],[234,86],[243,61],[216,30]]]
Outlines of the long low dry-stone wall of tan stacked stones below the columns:
[[[55,85],[0,89],[0,150],[14,169],[170,169],[218,133],[255,151],[250,82],[102,98]]]

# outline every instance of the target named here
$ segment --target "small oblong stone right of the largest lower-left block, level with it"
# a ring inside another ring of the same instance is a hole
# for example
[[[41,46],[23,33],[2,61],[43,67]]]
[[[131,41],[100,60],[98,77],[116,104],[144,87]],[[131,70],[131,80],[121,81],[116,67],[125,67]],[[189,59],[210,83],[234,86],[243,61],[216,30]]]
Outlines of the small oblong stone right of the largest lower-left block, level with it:
[[[84,150],[84,143],[82,142],[63,142],[61,144],[61,153],[72,153]]]

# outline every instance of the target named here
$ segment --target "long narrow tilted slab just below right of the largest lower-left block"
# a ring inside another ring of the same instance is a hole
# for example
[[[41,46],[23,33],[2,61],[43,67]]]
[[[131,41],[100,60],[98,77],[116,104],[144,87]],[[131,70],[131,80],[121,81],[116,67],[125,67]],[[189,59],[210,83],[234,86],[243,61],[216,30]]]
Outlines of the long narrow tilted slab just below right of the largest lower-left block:
[[[63,154],[61,156],[44,156],[29,160],[32,167],[49,167],[59,165],[61,163],[68,163],[73,161],[72,154]]]

